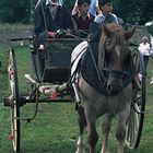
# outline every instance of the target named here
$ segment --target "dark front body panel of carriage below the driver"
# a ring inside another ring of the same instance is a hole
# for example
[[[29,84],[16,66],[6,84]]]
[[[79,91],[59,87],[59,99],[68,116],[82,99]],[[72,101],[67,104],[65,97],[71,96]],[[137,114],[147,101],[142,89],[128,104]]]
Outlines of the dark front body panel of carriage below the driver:
[[[38,80],[48,83],[63,83],[70,76],[71,52],[82,42],[81,38],[50,39],[44,52],[34,55],[34,74]]]

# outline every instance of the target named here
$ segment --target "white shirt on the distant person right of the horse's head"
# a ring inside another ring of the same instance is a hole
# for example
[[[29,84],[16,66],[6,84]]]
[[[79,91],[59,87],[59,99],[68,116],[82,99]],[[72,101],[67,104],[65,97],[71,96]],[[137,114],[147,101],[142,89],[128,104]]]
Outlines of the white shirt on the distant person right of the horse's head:
[[[138,47],[139,51],[142,54],[142,56],[150,56],[150,44],[149,43],[141,43]]]

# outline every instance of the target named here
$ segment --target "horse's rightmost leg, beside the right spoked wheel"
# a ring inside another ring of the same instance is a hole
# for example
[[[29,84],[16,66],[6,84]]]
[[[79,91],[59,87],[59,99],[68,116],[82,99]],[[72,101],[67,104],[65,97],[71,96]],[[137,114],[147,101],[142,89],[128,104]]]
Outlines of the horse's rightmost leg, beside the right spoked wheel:
[[[123,143],[126,138],[126,123],[130,114],[130,105],[117,115],[118,123],[116,129],[116,138],[118,140],[118,153],[123,153]]]

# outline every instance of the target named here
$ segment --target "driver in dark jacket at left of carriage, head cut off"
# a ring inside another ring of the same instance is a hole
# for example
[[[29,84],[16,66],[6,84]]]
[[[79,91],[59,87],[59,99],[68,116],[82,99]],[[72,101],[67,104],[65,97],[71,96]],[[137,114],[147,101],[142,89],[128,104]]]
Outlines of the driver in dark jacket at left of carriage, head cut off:
[[[59,0],[39,0],[35,7],[34,31],[38,42],[58,36],[58,30],[72,30],[68,9]]]

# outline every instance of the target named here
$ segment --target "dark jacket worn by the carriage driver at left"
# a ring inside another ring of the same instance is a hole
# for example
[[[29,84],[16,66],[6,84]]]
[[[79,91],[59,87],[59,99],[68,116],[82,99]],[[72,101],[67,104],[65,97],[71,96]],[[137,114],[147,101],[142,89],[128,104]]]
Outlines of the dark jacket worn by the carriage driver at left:
[[[45,27],[45,21],[47,27]],[[46,0],[40,0],[35,9],[34,26],[35,34],[39,35],[45,31],[56,32],[59,28],[73,28],[73,23],[71,15],[64,5],[59,5],[57,8],[57,14],[54,20],[49,10],[49,5],[46,5]]]

